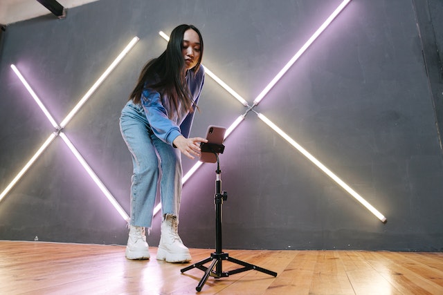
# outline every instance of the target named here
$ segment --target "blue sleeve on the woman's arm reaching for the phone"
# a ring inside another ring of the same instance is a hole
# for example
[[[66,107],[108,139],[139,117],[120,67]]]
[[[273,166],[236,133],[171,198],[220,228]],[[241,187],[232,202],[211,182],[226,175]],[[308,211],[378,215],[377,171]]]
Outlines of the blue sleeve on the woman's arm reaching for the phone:
[[[181,135],[180,127],[169,119],[168,111],[161,103],[160,93],[145,88],[141,95],[141,104],[156,137],[172,145],[175,138]]]

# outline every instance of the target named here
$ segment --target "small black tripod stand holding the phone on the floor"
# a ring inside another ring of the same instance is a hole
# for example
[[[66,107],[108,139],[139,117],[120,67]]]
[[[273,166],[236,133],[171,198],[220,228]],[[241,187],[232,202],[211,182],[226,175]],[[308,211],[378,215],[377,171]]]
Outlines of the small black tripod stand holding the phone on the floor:
[[[224,146],[217,149],[218,151],[223,152]],[[221,170],[220,170],[220,162],[219,162],[219,156],[217,153],[215,153],[215,156],[217,157],[217,173],[216,180],[215,180],[215,252],[210,254],[210,257],[199,261],[198,263],[195,263],[193,265],[190,265],[188,267],[185,267],[181,269],[181,272],[186,272],[193,268],[201,269],[205,272],[204,276],[201,278],[199,285],[195,287],[197,292],[201,291],[201,287],[206,283],[206,280],[208,280],[209,276],[213,276],[215,278],[221,278],[229,276],[230,274],[238,274],[239,272],[246,272],[251,269],[255,269],[258,272],[264,272],[265,274],[270,274],[271,276],[277,276],[276,272],[271,272],[268,269],[264,269],[262,267],[257,267],[256,265],[251,265],[249,263],[245,263],[242,260],[238,260],[235,258],[232,258],[229,256],[229,254],[224,253],[221,249],[221,204],[223,204],[223,201],[226,201],[228,198],[228,195],[226,191],[221,192]],[[239,269],[230,270],[229,272],[223,272],[221,261],[222,260],[228,260],[232,263],[237,263],[237,265],[242,265],[243,267]],[[204,264],[212,261],[209,267],[204,266]],[[215,268],[215,270],[214,270]]]

